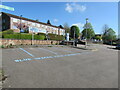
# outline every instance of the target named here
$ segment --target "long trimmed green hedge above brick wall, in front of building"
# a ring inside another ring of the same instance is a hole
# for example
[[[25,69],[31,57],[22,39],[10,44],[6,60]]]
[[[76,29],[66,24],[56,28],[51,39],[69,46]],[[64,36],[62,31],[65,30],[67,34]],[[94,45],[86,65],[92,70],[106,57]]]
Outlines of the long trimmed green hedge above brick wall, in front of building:
[[[12,29],[5,30],[1,32],[2,38],[6,39],[32,39],[32,34],[30,33],[15,33]],[[38,33],[34,35],[35,40],[45,40],[46,34]],[[49,40],[64,40],[65,37],[63,35],[56,35],[56,34],[48,34]]]

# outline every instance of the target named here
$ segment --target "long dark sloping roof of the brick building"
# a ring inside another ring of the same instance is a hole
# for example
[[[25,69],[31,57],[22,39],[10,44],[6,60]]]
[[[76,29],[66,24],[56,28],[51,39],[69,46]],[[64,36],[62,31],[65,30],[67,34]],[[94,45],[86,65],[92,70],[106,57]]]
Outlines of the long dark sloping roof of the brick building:
[[[28,19],[28,18],[24,18],[24,17],[16,16],[16,15],[9,14],[9,13],[5,13],[5,12],[2,12],[2,14],[6,14],[6,15],[8,15],[8,16],[10,16],[10,17],[14,17],[14,18],[22,19],[22,20],[27,20],[27,21],[31,21],[31,22],[35,22],[35,23],[39,23],[39,24],[43,24],[43,25],[47,25],[47,26],[51,26],[51,27],[62,28],[62,27],[59,27],[59,26],[50,25],[50,24],[43,23],[43,22],[38,22],[38,21],[36,21],[36,20],[32,20],[32,19]],[[62,28],[62,29],[63,29],[63,28]]]

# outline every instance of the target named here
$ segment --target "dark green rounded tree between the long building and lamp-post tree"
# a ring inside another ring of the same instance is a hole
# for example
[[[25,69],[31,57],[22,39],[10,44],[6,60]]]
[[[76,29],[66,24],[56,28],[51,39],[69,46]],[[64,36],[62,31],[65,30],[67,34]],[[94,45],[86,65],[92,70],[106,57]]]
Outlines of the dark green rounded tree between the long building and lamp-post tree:
[[[79,29],[79,27],[78,26],[72,26],[70,28],[70,37],[74,38],[74,36],[75,36],[75,39],[78,39],[79,35],[80,35],[80,29]]]

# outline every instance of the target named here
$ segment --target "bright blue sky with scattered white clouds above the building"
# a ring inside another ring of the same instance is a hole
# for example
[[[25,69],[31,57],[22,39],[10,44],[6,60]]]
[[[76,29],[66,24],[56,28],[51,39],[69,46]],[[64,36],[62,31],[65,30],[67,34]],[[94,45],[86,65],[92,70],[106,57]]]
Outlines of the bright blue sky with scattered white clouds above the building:
[[[15,11],[3,12],[23,15],[41,22],[60,25],[68,23],[78,25],[83,30],[85,19],[89,18],[95,33],[102,33],[104,24],[113,28],[118,34],[118,3],[117,2],[4,2],[4,5],[14,7]]]

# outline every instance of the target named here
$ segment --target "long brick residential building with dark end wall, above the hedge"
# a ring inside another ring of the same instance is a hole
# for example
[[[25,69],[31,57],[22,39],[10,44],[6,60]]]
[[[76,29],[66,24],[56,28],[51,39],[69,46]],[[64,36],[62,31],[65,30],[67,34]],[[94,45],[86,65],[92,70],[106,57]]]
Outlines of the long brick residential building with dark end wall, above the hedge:
[[[7,29],[13,29],[14,32],[25,32],[28,33],[52,33],[57,35],[65,35],[65,29],[60,26],[54,26],[51,24],[39,22],[37,20],[31,20],[21,16],[16,16],[8,13],[1,13],[0,31]]]

